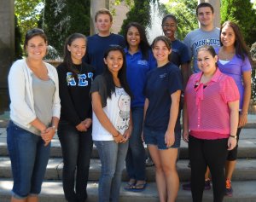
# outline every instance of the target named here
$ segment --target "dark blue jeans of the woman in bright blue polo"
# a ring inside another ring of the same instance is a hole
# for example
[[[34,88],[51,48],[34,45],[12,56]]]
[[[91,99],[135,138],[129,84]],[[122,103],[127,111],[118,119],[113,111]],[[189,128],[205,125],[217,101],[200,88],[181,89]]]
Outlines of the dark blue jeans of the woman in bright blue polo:
[[[143,131],[143,107],[131,108],[133,129],[129,140],[129,147],[125,159],[126,170],[130,179],[144,181],[145,172],[145,148],[142,141]]]

